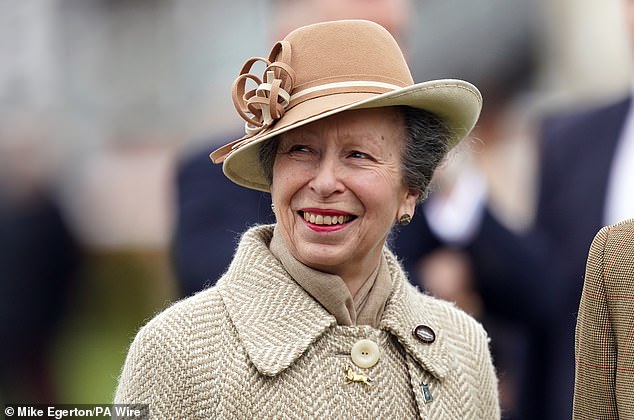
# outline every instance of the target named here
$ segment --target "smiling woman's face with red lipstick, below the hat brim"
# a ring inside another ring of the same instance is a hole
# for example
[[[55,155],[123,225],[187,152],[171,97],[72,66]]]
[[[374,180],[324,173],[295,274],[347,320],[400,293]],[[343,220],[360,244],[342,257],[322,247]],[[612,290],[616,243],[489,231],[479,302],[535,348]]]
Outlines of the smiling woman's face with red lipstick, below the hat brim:
[[[404,134],[391,108],[346,111],[282,134],[271,197],[296,259],[344,280],[376,268],[393,223],[414,214],[417,196],[401,177]]]

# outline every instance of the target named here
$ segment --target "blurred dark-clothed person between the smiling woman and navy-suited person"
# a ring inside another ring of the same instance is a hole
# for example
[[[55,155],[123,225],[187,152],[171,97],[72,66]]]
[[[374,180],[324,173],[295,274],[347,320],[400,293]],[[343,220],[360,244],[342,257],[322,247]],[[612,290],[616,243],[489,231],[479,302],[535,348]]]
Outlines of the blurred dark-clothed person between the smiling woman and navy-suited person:
[[[532,392],[527,383],[533,355],[530,331],[543,329],[555,306],[548,278],[532,265],[540,261],[539,255],[526,257],[534,254],[527,245],[498,249],[500,235],[521,232],[530,219],[533,153],[529,124],[518,108],[535,74],[534,43],[530,36],[509,39],[503,43],[513,51],[508,60],[483,54],[482,60],[490,64],[478,81],[483,92],[478,125],[470,140],[436,171],[430,198],[412,229],[399,232],[393,241],[414,283],[456,302],[491,335],[502,415],[509,420],[531,418],[520,402]],[[470,200],[475,207],[471,212],[465,209]],[[499,218],[511,228],[475,234],[481,217]],[[525,261],[525,266],[509,280],[507,273],[495,270],[505,261]],[[535,311],[536,304],[540,311]]]

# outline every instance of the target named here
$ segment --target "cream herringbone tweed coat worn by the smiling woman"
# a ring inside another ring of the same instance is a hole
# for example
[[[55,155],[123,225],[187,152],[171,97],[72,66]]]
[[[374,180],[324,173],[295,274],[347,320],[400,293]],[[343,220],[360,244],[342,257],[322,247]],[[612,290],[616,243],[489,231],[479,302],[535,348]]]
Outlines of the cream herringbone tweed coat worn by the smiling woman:
[[[499,419],[488,338],[450,303],[419,293],[395,257],[378,328],[337,325],[271,254],[272,226],[247,231],[217,285],[144,326],[116,403],[149,404],[151,418]],[[412,330],[430,327],[431,343]],[[380,348],[361,369],[350,349]],[[346,368],[372,382],[346,380]]]

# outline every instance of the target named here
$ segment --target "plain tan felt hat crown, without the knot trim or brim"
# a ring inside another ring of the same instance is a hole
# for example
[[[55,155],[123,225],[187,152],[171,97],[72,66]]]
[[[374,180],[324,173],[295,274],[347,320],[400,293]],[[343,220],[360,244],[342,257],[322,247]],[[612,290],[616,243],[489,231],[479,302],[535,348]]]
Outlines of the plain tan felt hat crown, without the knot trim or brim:
[[[375,81],[401,87],[414,83],[396,40],[366,20],[316,23],[284,39],[295,70],[292,93],[333,82]],[[278,55],[277,59],[281,59]]]

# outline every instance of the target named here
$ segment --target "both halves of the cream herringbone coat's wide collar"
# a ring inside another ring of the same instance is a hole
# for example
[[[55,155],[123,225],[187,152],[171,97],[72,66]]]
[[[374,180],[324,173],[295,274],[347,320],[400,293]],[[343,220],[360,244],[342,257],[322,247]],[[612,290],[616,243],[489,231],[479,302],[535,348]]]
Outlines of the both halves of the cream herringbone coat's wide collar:
[[[247,231],[218,289],[248,357],[263,375],[275,376],[337,322],[304,291],[271,254],[272,226]],[[439,320],[429,310],[434,300],[420,295],[395,257],[386,250],[395,282],[379,328],[392,333],[427,371],[443,378],[453,367]],[[426,304],[428,303],[428,304]],[[427,325],[436,333],[432,344],[418,341],[412,331]]]

